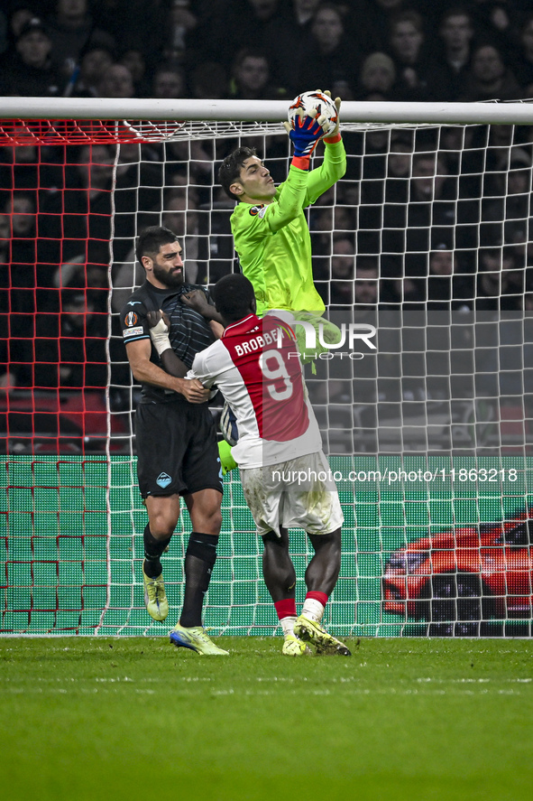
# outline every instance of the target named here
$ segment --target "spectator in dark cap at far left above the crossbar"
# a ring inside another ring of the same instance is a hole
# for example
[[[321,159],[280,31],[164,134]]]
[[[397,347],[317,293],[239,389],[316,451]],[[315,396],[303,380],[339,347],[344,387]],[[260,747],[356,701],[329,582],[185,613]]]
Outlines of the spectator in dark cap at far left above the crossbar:
[[[0,94],[23,97],[60,95],[62,83],[51,60],[51,38],[38,17],[27,22],[16,42],[12,63],[5,66],[0,78]]]

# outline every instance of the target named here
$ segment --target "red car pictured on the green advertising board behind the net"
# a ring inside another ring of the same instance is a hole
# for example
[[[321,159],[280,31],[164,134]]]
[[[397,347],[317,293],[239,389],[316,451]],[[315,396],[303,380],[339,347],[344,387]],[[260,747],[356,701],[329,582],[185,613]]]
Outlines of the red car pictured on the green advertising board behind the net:
[[[427,621],[431,636],[497,634],[492,620],[531,621],[533,507],[501,523],[453,528],[394,551],[383,610]]]

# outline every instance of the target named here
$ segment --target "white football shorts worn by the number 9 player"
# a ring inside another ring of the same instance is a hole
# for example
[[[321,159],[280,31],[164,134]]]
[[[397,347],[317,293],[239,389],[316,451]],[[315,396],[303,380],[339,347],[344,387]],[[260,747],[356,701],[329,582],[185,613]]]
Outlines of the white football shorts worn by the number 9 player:
[[[280,536],[280,526],[330,534],[342,526],[338,492],[322,451],[240,473],[258,535]]]

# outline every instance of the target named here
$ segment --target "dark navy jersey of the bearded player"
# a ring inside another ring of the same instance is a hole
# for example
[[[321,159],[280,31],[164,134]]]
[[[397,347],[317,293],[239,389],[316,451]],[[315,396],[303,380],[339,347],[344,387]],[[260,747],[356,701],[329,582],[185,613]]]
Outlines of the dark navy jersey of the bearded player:
[[[182,294],[192,292],[194,289],[200,289],[209,300],[209,293],[205,286],[181,284],[177,289],[158,289],[149,281],[145,281],[139,289],[135,290],[121,312],[120,321],[124,342],[150,340],[150,326],[146,316],[148,312],[162,309],[170,319],[169,339],[172,350],[188,368],[191,368],[197,353],[206,349],[216,339],[205,317],[193,309],[189,309],[185,303],[181,303],[179,300]],[[161,360],[153,346],[150,359],[158,367],[161,367]],[[154,387],[152,384],[142,384],[142,403],[169,402],[170,400],[182,400],[188,403],[179,393]]]

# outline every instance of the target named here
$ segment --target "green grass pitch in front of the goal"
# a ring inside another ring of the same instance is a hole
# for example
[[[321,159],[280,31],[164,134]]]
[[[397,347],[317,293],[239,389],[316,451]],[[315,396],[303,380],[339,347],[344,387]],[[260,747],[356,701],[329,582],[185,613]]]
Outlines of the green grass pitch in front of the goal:
[[[526,801],[533,642],[0,639],[10,801]]]

